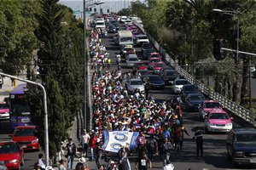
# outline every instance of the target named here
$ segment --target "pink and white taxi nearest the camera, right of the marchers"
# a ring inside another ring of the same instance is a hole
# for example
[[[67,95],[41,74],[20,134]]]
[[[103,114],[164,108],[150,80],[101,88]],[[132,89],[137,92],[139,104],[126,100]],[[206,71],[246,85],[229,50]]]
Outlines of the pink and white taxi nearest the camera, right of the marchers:
[[[206,132],[230,132],[233,127],[232,120],[226,111],[222,109],[212,109],[205,116]]]

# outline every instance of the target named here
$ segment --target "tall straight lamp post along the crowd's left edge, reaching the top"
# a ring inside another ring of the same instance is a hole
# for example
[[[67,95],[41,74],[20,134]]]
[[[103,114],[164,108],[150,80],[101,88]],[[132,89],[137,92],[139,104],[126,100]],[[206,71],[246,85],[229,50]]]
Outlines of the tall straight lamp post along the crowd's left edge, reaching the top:
[[[86,3],[88,2],[88,3]],[[84,129],[87,127],[87,54],[88,54],[88,48],[87,48],[87,19],[86,19],[86,11],[87,8],[90,8],[94,5],[100,5],[102,3],[105,3],[105,1],[89,1],[84,0]]]

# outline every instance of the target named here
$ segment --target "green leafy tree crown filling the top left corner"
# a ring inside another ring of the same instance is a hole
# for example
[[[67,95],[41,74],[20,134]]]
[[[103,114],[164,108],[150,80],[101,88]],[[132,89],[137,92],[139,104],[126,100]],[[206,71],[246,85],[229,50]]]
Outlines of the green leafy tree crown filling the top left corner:
[[[32,51],[37,47],[33,34],[37,2],[0,2],[0,62],[4,72],[16,75],[32,60]]]

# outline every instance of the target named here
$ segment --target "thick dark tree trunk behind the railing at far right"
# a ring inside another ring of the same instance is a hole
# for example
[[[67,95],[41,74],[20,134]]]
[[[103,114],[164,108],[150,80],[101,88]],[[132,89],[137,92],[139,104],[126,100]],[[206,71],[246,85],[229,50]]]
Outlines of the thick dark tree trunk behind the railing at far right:
[[[241,105],[246,105],[246,100],[249,96],[249,59],[243,60],[242,67],[242,82],[241,82]]]

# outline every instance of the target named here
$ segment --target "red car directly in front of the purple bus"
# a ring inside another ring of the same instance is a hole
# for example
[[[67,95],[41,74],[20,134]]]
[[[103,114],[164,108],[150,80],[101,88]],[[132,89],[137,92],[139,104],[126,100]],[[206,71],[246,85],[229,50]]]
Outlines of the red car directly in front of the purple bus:
[[[36,126],[15,127],[15,131],[10,135],[13,141],[18,142],[24,150],[39,150],[38,138],[35,136]]]

